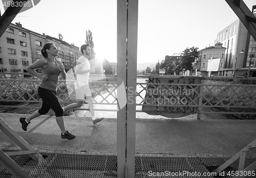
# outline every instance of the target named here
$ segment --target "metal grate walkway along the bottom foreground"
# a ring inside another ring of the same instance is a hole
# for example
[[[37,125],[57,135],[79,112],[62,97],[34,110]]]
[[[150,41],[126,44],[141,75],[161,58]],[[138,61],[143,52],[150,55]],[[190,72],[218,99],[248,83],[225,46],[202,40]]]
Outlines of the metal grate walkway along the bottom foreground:
[[[1,148],[4,152],[20,151],[17,148]],[[37,150],[45,158],[41,162],[28,155],[10,156],[32,177],[37,178],[84,178],[117,177],[117,154],[102,152],[73,152],[59,150]],[[223,164],[229,157],[196,154],[136,154],[135,177],[215,177],[209,171]],[[245,167],[256,160],[248,157]],[[224,171],[238,170],[239,160]],[[0,165],[1,178],[14,178]],[[255,177],[255,176],[246,176]]]

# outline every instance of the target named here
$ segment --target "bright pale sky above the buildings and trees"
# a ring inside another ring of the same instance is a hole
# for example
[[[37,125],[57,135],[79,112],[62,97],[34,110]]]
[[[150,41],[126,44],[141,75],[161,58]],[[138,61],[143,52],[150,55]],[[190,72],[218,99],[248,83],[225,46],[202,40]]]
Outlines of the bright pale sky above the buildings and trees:
[[[243,0],[251,10],[255,0]],[[3,14],[3,5],[0,5]],[[186,48],[214,46],[217,34],[237,20],[225,0],[139,0],[137,62],[157,63]],[[117,0],[41,0],[13,24],[79,47],[93,35],[96,58],[117,61]]]

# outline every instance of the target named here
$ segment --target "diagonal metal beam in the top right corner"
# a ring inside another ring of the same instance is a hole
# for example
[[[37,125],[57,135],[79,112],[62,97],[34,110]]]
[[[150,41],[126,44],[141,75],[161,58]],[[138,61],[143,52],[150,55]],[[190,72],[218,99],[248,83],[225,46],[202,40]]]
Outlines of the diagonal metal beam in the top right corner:
[[[243,0],[225,0],[230,8],[237,14],[245,28],[251,36],[256,40],[256,17],[252,14]]]

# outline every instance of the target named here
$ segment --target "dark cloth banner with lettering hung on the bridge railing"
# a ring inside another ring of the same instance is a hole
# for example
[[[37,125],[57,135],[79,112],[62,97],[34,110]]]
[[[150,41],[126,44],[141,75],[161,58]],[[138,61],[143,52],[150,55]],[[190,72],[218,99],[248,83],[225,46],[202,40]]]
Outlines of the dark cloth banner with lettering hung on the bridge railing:
[[[199,85],[203,79],[203,77],[189,76],[148,78],[142,111],[148,115],[160,115],[167,118],[180,118],[198,113],[201,88],[193,84]],[[161,83],[177,85],[161,85]]]

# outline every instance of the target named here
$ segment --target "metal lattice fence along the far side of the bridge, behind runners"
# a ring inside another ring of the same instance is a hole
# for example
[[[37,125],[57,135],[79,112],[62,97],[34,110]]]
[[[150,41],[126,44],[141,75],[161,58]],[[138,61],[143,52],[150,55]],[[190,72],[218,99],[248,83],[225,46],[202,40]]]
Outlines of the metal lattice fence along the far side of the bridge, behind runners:
[[[0,74],[3,75],[3,74]],[[5,74],[6,75],[6,74]],[[16,75],[17,76],[17,75]],[[90,88],[94,104],[110,105],[110,109],[95,109],[104,111],[117,111],[117,82],[115,75],[91,75]],[[205,114],[244,114],[256,115],[256,79],[254,78],[226,78],[226,77],[206,77],[201,83],[147,83],[159,76],[137,76],[136,87],[136,112],[143,112],[142,107],[148,106],[145,102],[148,94],[147,86],[150,84],[154,88],[164,85],[168,90],[174,87],[189,90],[196,94],[196,98],[191,98],[186,107],[199,108],[200,113]],[[180,78],[179,76],[161,76],[161,78]],[[35,78],[2,78],[0,79],[0,107],[23,107],[33,108],[33,106],[20,106],[17,103],[40,103],[41,99],[37,94],[37,87],[40,80]],[[200,88],[200,90],[198,90]],[[57,86],[57,97],[61,104],[74,103],[74,80],[68,78],[59,80]],[[154,96],[154,101],[159,100],[159,96]],[[189,98],[190,97],[190,98]],[[182,98],[181,98],[182,99]],[[200,102],[195,102],[199,100]],[[127,101],[128,102],[128,101]],[[84,102],[86,103],[86,102]],[[153,104],[154,105],[154,104]],[[178,106],[184,107],[184,103],[172,104],[155,103],[157,106]],[[34,107],[38,108],[38,107]],[[114,109],[113,109],[114,108]],[[77,108],[88,110],[87,108]],[[200,116],[199,116],[200,117]]]

